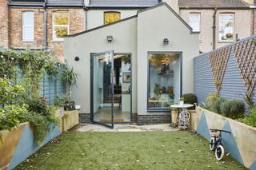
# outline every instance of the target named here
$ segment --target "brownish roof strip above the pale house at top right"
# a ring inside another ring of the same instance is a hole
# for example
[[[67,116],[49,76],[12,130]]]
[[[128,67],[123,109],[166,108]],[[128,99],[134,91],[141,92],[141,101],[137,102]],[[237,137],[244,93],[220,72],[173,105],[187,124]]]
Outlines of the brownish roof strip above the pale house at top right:
[[[250,5],[242,0],[178,0],[181,9],[186,8],[214,8],[217,4],[222,9],[249,9]]]

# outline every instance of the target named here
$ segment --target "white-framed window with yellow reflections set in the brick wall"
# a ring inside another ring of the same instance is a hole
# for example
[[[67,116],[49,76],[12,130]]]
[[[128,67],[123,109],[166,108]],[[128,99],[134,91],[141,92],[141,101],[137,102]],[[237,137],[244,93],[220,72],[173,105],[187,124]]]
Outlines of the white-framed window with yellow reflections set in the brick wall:
[[[69,34],[69,13],[54,12],[53,14],[53,40],[63,41],[63,37]]]

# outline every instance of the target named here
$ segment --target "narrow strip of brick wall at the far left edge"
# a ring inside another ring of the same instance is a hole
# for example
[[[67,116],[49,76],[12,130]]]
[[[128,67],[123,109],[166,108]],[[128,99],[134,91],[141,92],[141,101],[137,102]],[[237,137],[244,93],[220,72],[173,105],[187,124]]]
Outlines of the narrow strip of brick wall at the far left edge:
[[[0,0],[0,47],[8,47],[8,8],[7,0]]]

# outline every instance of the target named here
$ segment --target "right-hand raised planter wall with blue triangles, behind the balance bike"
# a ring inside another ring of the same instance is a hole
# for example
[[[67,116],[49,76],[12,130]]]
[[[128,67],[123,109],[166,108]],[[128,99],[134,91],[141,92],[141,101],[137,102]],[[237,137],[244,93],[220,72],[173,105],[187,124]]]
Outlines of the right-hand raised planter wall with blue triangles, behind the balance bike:
[[[209,128],[230,131],[231,135],[222,133],[222,144],[225,151],[246,168],[256,169],[256,128],[197,107],[194,130],[206,140],[210,140]]]

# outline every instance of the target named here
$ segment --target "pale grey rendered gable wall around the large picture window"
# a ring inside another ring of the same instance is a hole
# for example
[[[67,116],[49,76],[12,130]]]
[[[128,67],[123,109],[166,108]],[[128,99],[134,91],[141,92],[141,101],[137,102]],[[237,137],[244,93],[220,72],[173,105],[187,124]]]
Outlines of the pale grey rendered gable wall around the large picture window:
[[[163,45],[164,38],[170,40],[169,45]],[[141,115],[154,114],[147,112],[147,54],[152,51],[182,53],[182,93],[193,93],[193,57],[199,53],[198,34],[191,34],[190,27],[165,5],[138,13],[137,97],[138,114]]]

